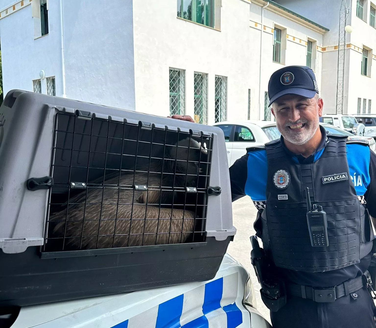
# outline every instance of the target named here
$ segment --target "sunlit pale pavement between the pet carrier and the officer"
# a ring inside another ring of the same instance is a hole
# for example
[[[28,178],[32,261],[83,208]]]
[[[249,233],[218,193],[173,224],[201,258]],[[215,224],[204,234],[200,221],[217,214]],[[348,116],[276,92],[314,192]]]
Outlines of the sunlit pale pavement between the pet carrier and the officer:
[[[264,305],[260,296],[260,284],[257,281],[255,270],[251,264],[251,242],[249,237],[254,235],[253,223],[256,220],[257,210],[249,196],[244,196],[232,203],[232,224],[237,228],[234,240],[230,242],[227,253],[240,262],[249,272],[253,289],[256,294],[257,310],[270,322],[270,311]],[[258,238],[260,246],[261,240]]]

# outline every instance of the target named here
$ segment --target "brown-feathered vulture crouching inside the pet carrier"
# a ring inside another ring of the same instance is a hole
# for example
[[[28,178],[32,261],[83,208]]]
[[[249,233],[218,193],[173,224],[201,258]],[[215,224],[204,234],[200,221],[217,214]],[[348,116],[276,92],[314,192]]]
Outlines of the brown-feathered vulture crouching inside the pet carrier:
[[[65,236],[64,251],[184,243],[194,231],[195,213],[174,208],[186,198],[185,192],[172,188],[196,188],[199,161],[207,162],[208,153],[191,137],[178,146],[183,147],[166,147],[164,159],[151,159],[150,167],[121,172],[120,180],[119,172],[106,175],[104,188],[103,178],[89,182],[96,188],[72,197],[68,214],[66,208],[50,214],[48,238]],[[141,190],[134,190],[134,185]]]

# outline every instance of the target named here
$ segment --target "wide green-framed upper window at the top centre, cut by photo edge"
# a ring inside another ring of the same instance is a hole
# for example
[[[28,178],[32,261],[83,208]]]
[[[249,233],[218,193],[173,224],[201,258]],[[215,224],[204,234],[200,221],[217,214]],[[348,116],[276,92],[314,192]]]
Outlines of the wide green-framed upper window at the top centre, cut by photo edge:
[[[215,0],[177,0],[177,17],[214,28]]]

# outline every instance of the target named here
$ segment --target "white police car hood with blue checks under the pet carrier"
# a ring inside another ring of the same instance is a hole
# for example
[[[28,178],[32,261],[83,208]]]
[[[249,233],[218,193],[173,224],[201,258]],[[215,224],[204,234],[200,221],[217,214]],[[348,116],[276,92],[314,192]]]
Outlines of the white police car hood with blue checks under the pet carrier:
[[[19,313],[0,315],[0,326],[271,328],[257,311],[249,273],[228,254],[210,281],[21,307]]]

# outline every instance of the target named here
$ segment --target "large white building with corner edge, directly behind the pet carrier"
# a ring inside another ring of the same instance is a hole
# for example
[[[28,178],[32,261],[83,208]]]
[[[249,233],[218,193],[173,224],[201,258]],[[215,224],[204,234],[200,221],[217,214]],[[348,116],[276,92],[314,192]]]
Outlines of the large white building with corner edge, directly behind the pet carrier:
[[[323,89],[328,29],[275,2],[0,0],[0,8],[5,94],[213,124],[271,119],[269,77],[285,65],[309,65]]]

